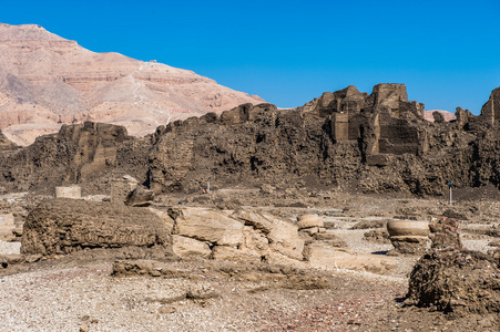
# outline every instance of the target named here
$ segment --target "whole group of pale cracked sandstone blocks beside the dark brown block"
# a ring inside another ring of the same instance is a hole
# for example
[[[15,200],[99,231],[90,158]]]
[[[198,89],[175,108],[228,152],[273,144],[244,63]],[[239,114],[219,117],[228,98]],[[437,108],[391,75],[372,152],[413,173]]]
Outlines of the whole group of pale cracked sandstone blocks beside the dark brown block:
[[[206,208],[175,208],[169,214],[174,220],[173,249],[180,257],[303,264],[304,240],[297,226],[286,220],[249,210],[227,216]]]

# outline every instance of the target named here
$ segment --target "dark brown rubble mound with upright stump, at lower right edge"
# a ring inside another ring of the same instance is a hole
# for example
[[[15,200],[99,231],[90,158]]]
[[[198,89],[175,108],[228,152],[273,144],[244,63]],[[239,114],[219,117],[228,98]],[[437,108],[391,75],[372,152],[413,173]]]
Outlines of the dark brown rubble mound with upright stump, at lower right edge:
[[[493,314],[500,320],[500,266],[493,256],[463,249],[455,219],[431,225],[431,251],[410,274],[408,302],[457,314]]]

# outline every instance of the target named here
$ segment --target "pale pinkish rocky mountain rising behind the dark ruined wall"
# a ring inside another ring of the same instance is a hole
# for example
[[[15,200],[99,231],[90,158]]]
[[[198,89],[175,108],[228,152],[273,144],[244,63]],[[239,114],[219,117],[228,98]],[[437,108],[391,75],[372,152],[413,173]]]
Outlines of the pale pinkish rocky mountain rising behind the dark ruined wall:
[[[0,23],[0,129],[17,144],[84,121],[143,136],[175,120],[262,102],[191,71],[91,52],[40,25]]]

